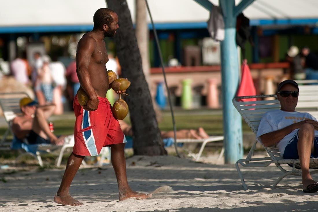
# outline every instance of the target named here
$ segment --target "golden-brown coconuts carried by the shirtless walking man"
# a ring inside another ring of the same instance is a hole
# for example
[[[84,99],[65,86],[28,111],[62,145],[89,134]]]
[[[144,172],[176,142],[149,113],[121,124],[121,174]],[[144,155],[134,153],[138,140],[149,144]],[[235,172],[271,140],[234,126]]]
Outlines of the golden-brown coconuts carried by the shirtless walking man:
[[[128,81],[127,79],[125,78],[117,79],[117,75],[114,71],[109,70],[107,71],[107,74],[108,74],[108,83],[110,87],[113,88],[114,91],[123,91],[130,86],[130,81]],[[121,93],[121,94],[128,95],[126,93]],[[112,107],[114,116],[118,120],[123,120],[128,114],[128,104],[127,102],[125,102],[125,100],[121,98],[121,94],[119,95],[119,99],[116,100],[116,102],[114,102]],[[78,90],[77,96],[78,96],[79,104],[82,107],[86,106],[88,101],[88,95],[82,88]]]

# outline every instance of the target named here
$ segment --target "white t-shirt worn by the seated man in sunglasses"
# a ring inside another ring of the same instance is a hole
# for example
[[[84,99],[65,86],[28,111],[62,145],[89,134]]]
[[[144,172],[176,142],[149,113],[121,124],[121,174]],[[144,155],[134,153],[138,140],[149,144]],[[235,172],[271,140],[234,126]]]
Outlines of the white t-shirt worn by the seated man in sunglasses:
[[[263,115],[259,123],[256,139],[259,143],[262,144],[262,140],[260,138],[261,135],[283,129],[291,124],[303,121],[305,120],[305,118],[317,121],[315,117],[313,117],[309,113],[301,113],[296,111],[286,112],[282,110],[268,111]],[[276,144],[276,147],[279,149],[281,155],[284,154],[285,147],[287,146],[288,141],[290,141],[294,137],[297,131],[298,129],[292,131]],[[315,136],[318,136],[318,131],[316,130]]]

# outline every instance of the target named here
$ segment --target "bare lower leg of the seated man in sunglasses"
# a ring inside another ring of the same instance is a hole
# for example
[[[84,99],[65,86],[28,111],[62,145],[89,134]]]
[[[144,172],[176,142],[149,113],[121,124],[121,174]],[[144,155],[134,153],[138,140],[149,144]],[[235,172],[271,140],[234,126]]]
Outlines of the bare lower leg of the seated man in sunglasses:
[[[310,154],[314,151],[315,132],[311,124],[302,124],[298,131],[297,150],[301,164],[302,186],[307,189],[308,185],[317,183],[309,173]]]

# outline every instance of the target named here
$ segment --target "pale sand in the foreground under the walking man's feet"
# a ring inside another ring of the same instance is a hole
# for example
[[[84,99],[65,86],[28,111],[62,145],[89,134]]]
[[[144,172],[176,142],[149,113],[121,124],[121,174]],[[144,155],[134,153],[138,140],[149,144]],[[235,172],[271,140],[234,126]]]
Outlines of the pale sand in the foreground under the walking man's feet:
[[[253,168],[249,172],[242,170],[249,187],[247,191],[243,190],[234,165],[198,163],[174,156],[133,156],[127,159],[129,184],[144,193],[157,189],[153,196],[146,200],[118,201],[111,165],[81,168],[73,180],[71,195],[84,202],[83,206],[61,206],[53,201],[63,168],[0,170],[0,211],[318,210],[318,193],[303,193],[301,177],[288,176],[276,189],[271,189],[280,174],[275,166]]]

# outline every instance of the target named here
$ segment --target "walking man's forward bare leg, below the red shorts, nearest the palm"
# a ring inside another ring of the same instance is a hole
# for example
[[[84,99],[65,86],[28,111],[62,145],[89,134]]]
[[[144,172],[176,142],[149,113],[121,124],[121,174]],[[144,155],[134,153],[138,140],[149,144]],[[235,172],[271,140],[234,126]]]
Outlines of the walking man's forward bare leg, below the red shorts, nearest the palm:
[[[142,194],[135,192],[128,185],[124,147],[125,144],[114,144],[110,147],[112,165],[114,167],[118,183],[119,200],[125,200],[130,197],[147,199],[148,197],[151,197],[152,194]]]

